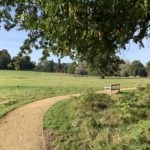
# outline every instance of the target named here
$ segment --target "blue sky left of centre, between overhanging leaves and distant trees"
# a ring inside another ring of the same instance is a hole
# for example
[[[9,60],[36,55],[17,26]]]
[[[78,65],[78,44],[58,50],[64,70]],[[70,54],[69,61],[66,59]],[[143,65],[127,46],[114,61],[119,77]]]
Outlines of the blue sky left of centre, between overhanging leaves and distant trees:
[[[0,30],[0,50],[7,49],[10,55],[16,56],[22,46],[23,41],[26,39],[27,33],[23,31],[11,30],[9,32],[4,29]],[[38,62],[42,57],[41,50],[34,50],[30,55],[33,61]],[[58,58],[54,55],[50,55],[49,60],[53,59],[55,62],[58,61]],[[62,59],[62,62],[71,62],[69,57]]]

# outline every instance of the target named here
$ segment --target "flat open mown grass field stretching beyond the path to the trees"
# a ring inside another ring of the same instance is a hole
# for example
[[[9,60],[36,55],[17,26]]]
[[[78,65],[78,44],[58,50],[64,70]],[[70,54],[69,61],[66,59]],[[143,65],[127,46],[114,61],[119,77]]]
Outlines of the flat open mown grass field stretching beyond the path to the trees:
[[[56,73],[0,71],[0,117],[31,101],[80,93],[88,88],[102,90],[110,83],[120,83],[122,88],[133,87],[150,83],[150,78],[100,79]]]

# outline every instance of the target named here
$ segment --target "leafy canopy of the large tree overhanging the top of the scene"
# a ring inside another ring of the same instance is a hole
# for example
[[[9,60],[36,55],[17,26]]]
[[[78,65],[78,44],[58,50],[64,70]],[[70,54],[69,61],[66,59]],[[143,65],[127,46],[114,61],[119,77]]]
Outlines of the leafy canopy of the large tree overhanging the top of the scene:
[[[23,52],[41,48],[44,58],[50,52],[78,56],[93,66],[103,55],[99,63],[109,66],[131,39],[143,46],[150,0],[1,0],[0,22],[7,30],[28,31]]]

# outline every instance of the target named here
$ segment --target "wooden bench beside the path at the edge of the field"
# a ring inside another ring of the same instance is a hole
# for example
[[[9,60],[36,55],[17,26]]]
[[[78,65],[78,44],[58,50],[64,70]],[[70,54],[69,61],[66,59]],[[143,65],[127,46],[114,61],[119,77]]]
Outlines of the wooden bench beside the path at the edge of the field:
[[[111,84],[110,86],[104,87],[105,93],[119,93],[120,92],[120,84]]]

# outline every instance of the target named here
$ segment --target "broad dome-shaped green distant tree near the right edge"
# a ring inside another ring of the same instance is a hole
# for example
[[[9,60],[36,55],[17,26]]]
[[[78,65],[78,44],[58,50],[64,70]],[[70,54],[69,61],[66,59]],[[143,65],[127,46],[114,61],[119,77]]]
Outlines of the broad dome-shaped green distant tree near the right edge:
[[[144,65],[138,60],[131,63],[129,67],[129,74],[130,76],[147,76]]]

